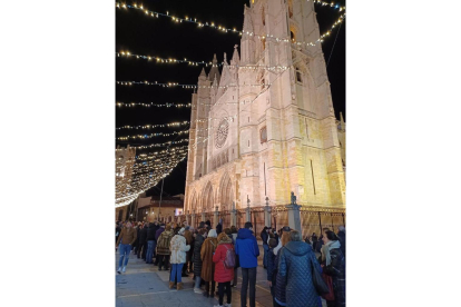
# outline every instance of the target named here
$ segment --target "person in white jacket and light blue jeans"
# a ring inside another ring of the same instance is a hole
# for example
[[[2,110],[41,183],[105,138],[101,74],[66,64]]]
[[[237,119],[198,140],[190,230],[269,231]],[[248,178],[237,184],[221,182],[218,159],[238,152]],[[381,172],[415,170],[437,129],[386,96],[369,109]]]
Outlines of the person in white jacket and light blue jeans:
[[[177,280],[177,289],[183,289],[183,280],[182,280],[182,270],[183,266],[186,263],[186,251],[190,249],[190,245],[186,245],[186,238],[184,237],[184,232],[186,229],[180,228],[178,234],[173,237],[171,242],[169,245],[169,250],[171,251],[171,275],[169,277],[169,288],[171,289],[175,284],[175,277]]]

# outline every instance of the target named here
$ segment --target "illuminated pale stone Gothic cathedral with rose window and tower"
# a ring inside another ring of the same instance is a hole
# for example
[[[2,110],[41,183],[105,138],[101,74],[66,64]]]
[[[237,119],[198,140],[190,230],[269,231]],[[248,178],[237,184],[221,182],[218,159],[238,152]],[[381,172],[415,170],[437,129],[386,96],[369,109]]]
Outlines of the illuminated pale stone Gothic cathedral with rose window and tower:
[[[230,60],[192,98],[185,212],[288,205],[345,208],[336,120],[313,1],[251,0]]]

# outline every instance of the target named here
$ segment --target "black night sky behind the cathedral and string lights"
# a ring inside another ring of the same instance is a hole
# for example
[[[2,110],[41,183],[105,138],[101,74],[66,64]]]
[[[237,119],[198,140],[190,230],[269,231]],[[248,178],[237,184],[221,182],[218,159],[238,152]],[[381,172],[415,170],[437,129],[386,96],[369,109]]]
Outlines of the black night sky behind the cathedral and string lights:
[[[197,18],[200,21],[213,21],[226,28],[243,27],[244,3],[249,0],[171,0],[171,1],[143,1],[145,9],[158,12],[168,11],[175,17]],[[126,2],[127,4],[135,2]],[[345,1],[336,1],[345,6]],[[330,7],[315,4],[317,21],[321,33],[327,30],[340,13]],[[333,105],[336,118],[340,111],[345,119],[345,24],[343,22],[334,46],[337,28],[323,42],[325,62],[328,61],[327,72],[331,82]],[[176,58],[196,61],[210,61],[213,55],[217,55],[218,62],[223,61],[223,53],[227,52],[227,59],[232,58],[234,44],[239,44],[239,36],[235,33],[223,33],[207,27],[198,28],[195,23],[176,23],[169,18],[153,18],[146,16],[140,10],[116,9],[116,52],[130,51],[130,53],[156,56],[163,58]],[[209,67],[205,68],[209,71]],[[136,58],[116,58],[116,80],[117,81],[158,81],[158,82],[179,82],[197,83],[202,66],[192,67],[186,63],[156,63]],[[154,86],[117,86],[116,100],[121,102],[176,102],[187,103],[192,99],[192,89],[182,88],[159,88]],[[116,127],[125,125],[155,125],[168,123],[173,121],[190,120],[190,108],[117,108]],[[122,137],[134,135],[135,130],[117,130],[116,136]],[[139,131],[139,130],[138,130]],[[163,128],[149,130],[149,132],[171,132],[179,131],[178,128]],[[117,145],[133,146],[150,145],[154,142],[165,142],[175,137],[151,138],[146,140],[117,141]],[[186,136],[179,137],[186,138]],[[186,145],[186,143],[183,143]],[[137,154],[148,154],[159,149],[137,150]],[[180,162],[171,174],[165,178],[164,195],[184,194],[186,180],[187,159]],[[161,182],[147,191],[147,195],[159,195]]]

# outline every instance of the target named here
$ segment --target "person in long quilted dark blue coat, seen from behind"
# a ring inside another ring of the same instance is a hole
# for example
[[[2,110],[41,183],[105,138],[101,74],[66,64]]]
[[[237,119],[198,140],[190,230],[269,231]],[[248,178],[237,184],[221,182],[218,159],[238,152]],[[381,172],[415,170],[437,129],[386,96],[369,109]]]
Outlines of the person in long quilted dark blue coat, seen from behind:
[[[313,266],[322,271],[311,246],[303,241],[300,231],[292,230],[278,260],[278,275],[286,284],[286,306],[318,307],[318,294],[312,281]]]

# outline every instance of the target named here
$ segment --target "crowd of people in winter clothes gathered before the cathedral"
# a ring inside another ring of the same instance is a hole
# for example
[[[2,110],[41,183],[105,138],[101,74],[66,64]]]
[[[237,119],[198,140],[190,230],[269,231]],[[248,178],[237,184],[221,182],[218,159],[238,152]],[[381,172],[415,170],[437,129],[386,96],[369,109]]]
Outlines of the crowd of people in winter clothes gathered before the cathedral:
[[[314,232],[304,240],[300,231],[287,226],[278,231],[264,227],[259,238],[274,307],[322,307],[321,297],[328,307],[345,306],[343,226],[337,234],[323,228],[320,237]],[[241,306],[246,307],[247,296],[249,306],[256,305],[259,248],[249,221],[238,230],[235,226],[223,229],[222,224],[212,228],[209,220],[202,221],[196,229],[186,221],[117,222],[117,248],[118,274],[126,271],[133,249],[146,264],[170,271],[170,289],[183,289],[182,277],[193,275],[194,293],[210,298],[216,295],[215,307],[230,306],[232,288],[237,285],[237,268],[241,268]]]

